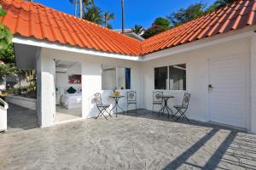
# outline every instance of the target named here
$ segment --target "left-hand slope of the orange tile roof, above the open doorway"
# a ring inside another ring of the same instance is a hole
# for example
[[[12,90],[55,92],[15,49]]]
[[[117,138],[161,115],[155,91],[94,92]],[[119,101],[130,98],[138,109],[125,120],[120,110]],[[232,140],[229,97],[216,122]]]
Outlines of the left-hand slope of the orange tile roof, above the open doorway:
[[[0,0],[7,15],[0,18],[15,34],[117,54],[141,54],[140,42],[39,3]]]

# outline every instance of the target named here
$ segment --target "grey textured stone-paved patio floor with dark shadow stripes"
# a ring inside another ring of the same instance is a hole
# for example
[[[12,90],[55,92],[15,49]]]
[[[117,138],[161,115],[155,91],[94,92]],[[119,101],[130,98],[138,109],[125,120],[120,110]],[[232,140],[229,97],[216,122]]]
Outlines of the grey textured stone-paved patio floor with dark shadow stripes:
[[[0,134],[0,169],[256,169],[256,135],[138,112]]]

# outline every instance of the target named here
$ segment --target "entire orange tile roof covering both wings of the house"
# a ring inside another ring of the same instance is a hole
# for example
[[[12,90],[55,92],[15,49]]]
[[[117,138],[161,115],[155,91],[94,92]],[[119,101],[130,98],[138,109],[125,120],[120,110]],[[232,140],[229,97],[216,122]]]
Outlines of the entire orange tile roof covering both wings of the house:
[[[241,0],[143,42],[39,3],[0,0],[15,34],[116,54],[143,55],[256,24],[256,0]]]

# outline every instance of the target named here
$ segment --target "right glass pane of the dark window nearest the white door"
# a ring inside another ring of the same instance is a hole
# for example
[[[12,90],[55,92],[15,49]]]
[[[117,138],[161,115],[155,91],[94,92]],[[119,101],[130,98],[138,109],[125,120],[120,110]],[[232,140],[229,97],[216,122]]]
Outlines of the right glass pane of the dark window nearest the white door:
[[[169,66],[170,90],[186,90],[186,64]]]

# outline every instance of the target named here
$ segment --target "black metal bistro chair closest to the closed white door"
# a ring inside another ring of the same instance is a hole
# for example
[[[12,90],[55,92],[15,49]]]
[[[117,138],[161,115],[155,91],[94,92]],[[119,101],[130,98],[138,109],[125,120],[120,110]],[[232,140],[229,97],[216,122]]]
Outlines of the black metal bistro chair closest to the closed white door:
[[[175,121],[177,121],[180,117],[183,117],[184,119],[186,119],[189,122],[189,118],[185,115],[185,113],[189,107],[190,96],[191,96],[191,94],[185,93],[184,97],[183,97],[183,104],[173,106],[177,110],[177,112],[172,116],[172,117],[177,116],[177,119]]]

